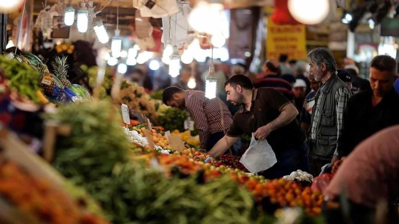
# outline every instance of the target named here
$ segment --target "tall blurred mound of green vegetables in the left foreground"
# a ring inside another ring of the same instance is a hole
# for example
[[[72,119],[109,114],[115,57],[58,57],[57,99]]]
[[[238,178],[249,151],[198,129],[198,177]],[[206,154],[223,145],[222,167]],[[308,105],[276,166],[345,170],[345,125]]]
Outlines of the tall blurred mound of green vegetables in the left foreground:
[[[115,165],[124,163],[130,147],[112,104],[96,100],[66,104],[45,118],[70,125],[71,135],[57,140],[53,166],[72,183],[99,200],[107,193]],[[101,201],[101,200],[100,200]]]

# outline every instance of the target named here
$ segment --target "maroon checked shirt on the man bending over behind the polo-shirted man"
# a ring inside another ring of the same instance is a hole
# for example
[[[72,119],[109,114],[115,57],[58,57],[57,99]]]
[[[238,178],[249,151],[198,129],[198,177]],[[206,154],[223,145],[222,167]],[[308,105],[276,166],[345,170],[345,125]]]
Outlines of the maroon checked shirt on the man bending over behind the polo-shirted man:
[[[190,112],[199,130],[199,141],[202,149],[205,149],[209,136],[216,132],[227,132],[233,119],[226,104],[218,97],[209,100],[205,92],[198,90],[186,90],[184,95],[186,110]],[[223,109],[223,110],[221,110]],[[223,113],[223,125],[221,114]]]

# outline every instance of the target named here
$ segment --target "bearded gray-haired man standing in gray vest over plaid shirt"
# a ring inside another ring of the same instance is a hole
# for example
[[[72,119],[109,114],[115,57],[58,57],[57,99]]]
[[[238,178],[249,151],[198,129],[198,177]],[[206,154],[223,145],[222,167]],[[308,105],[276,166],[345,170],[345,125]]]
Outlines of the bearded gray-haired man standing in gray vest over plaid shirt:
[[[341,135],[342,116],[348,99],[352,96],[348,85],[336,72],[337,63],[331,51],[318,47],[308,53],[310,73],[321,81],[315,96],[310,124],[310,173],[318,175],[321,168],[338,159],[337,141]]]

